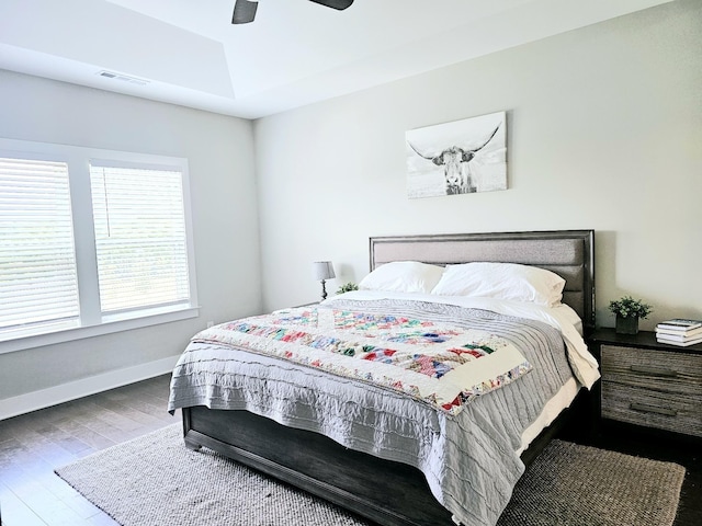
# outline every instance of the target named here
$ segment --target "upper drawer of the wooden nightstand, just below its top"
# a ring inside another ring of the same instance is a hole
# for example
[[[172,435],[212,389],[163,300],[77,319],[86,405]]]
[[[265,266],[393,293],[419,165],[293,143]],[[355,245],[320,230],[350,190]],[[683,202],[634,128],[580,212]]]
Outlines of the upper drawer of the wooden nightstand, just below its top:
[[[697,397],[702,404],[702,357],[699,355],[602,345],[601,362],[603,384]]]

